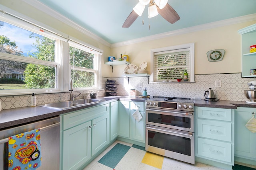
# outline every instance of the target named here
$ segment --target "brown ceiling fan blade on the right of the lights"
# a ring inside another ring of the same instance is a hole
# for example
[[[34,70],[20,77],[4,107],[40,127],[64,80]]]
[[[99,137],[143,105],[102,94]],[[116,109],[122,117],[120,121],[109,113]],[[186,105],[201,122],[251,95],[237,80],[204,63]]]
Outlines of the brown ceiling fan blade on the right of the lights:
[[[156,8],[157,12],[168,22],[175,23],[176,21],[180,20],[180,16],[168,3],[162,9],[160,9],[158,6],[156,6]]]

